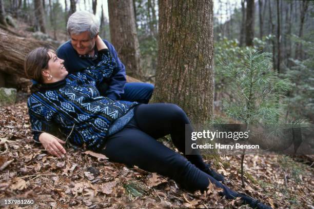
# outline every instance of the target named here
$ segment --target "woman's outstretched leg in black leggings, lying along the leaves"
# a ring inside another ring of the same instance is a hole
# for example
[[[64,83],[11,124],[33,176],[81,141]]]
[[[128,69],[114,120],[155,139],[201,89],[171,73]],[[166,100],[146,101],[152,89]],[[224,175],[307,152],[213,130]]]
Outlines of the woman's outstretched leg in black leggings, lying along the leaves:
[[[202,172],[179,153],[167,148],[136,127],[132,119],[120,132],[108,138],[101,151],[109,160],[167,176],[189,191],[206,190],[209,181],[221,187],[227,198],[237,197],[213,177]]]

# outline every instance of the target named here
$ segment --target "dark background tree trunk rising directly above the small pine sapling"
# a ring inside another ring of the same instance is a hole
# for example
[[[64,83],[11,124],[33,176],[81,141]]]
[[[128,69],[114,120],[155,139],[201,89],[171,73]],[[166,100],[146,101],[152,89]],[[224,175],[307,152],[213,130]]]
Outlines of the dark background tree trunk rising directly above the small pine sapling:
[[[246,20],[245,20],[245,45],[253,46],[254,38],[254,0],[247,0],[246,5]]]

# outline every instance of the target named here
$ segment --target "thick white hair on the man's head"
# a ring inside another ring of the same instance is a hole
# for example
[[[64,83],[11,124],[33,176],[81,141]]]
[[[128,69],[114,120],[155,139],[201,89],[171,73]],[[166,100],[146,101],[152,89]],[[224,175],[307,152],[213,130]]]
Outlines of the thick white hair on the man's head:
[[[90,37],[93,38],[99,32],[99,22],[92,13],[86,11],[77,11],[69,17],[67,31],[69,35],[78,35],[88,31],[90,32]]]

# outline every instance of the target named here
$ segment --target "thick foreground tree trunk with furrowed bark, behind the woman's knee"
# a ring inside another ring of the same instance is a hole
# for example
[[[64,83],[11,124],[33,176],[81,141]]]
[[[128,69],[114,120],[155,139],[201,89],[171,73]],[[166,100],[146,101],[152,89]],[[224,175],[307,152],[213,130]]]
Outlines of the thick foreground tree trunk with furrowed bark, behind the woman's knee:
[[[194,123],[213,115],[213,2],[159,1],[155,102],[179,105]],[[184,14],[184,15],[182,15]]]

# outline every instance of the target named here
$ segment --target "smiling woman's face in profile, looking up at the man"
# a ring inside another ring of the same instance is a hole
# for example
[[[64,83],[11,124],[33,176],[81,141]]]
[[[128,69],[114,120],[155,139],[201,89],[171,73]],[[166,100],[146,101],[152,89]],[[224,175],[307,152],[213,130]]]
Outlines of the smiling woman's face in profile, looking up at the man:
[[[54,52],[49,51],[48,54],[50,59],[48,61],[48,70],[45,71],[49,74],[43,75],[48,78],[48,80],[51,78],[49,75],[51,75],[52,78],[49,80],[50,82],[56,82],[65,79],[65,77],[68,75],[68,71],[63,65],[64,60],[58,58]],[[45,71],[43,73],[45,73]]]

